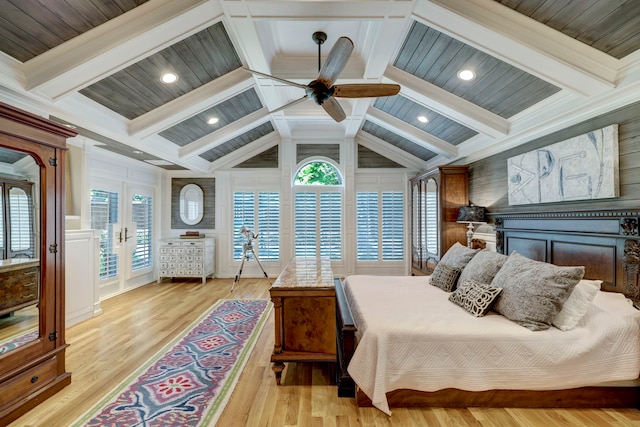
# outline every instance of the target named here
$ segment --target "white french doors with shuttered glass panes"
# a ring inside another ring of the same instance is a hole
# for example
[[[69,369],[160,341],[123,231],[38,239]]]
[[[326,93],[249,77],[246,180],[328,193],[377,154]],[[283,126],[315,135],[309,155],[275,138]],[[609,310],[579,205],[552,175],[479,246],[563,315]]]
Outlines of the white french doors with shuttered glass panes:
[[[153,189],[100,180],[91,189],[91,228],[100,230],[100,297],[153,273]]]

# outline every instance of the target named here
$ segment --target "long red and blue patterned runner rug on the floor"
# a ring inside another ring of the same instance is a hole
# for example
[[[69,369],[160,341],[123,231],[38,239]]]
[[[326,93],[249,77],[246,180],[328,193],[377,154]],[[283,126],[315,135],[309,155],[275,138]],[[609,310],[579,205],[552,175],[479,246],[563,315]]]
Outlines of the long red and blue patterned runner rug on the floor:
[[[271,310],[267,300],[220,300],[74,424],[215,425]]]

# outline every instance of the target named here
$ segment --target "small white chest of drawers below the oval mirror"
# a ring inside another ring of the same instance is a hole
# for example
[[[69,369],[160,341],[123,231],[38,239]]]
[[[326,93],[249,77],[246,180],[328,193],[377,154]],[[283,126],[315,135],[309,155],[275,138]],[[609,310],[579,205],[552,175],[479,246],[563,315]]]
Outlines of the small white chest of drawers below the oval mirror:
[[[215,240],[163,239],[158,250],[158,282],[165,277],[200,277],[202,283],[215,274]]]

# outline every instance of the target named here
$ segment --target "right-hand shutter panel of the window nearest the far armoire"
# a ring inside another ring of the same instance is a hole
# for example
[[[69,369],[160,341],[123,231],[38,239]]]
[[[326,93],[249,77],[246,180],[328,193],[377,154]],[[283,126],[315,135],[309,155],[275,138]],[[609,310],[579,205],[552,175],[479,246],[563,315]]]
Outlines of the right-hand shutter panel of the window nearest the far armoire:
[[[402,193],[382,193],[382,259],[404,259]]]

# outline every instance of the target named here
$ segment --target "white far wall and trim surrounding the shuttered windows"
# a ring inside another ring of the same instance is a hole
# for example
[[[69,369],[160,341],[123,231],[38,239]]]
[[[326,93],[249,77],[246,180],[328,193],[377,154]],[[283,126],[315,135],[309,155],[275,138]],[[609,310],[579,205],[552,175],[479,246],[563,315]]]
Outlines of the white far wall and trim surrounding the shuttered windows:
[[[281,257],[279,262],[262,264],[269,277],[275,278],[284,269],[293,256],[293,174],[302,163],[296,163],[296,143],[340,144],[341,163],[338,168],[344,178],[344,217],[343,217],[343,261],[332,263],[336,275],[347,276],[356,273],[368,274],[407,274],[410,269],[409,248],[405,248],[406,258],[402,262],[357,262],[355,259],[355,192],[356,191],[402,191],[408,197],[409,176],[415,170],[408,169],[357,169],[355,159],[357,145],[353,140],[284,140],[279,144],[279,167],[277,169],[233,169],[233,166],[248,157],[244,155],[235,161],[206,175],[185,171],[165,171],[161,192],[164,194],[162,205],[162,237],[176,237],[184,230],[171,229],[171,178],[215,178],[216,179],[216,215],[214,229],[194,230],[204,232],[216,238],[216,277],[234,277],[240,261],[232,259],[233,253],[233,193],[236,191],[277,191],[280,193],[281,206]],[[257,150],[254,154],[262,150]],[[231,157],[233,155],[230,155]],[[407,233],[409,218],[405,213]],[[259,232],[259,230],[257,230]],[[408,234],[407,234],[408,237]],[[408,242],[408,238],[405,239]],[[245,262],[241,277],[262,277],[262,271],[253,260]]]

